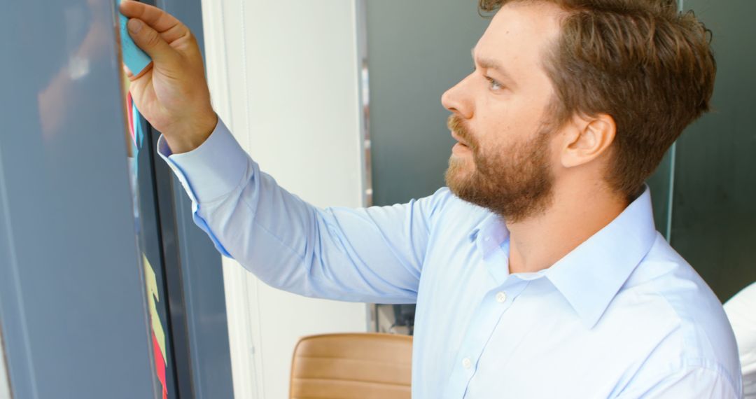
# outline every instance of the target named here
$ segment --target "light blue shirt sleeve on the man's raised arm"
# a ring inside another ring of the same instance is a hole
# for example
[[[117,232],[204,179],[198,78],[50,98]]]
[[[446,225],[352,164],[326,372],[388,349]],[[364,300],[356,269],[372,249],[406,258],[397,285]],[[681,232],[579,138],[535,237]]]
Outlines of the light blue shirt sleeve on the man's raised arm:
[[[197,149],[158,152],[223,255],[271,286],[317,298],[414,303],[433,215],[448,190],[404,205],[318,209],[263,173],[223,122]]]

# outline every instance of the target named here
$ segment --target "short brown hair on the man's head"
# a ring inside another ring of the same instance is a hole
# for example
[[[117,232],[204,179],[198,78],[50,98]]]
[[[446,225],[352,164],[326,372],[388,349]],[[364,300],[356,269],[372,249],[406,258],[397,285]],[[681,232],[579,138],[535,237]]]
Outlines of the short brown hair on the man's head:
[[[510,2],[479,0],[481,11]],[[675,0],[535,0],[566,11],[544,54],[558,125],[575,113],[615,120],[606,179],[627,196],[640,189],[683,129],[709,109],[716,63],[711,32]]]

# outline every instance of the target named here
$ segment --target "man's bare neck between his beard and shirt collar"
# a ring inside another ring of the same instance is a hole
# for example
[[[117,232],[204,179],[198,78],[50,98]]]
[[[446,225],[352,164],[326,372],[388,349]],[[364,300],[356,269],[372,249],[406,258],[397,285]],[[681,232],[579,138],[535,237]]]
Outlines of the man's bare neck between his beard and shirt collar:
[[[627,205],[627,200],[604,187],[554,187],[553,202],[546,212],[507,223],[510,274],[550,268],[611,223]]]

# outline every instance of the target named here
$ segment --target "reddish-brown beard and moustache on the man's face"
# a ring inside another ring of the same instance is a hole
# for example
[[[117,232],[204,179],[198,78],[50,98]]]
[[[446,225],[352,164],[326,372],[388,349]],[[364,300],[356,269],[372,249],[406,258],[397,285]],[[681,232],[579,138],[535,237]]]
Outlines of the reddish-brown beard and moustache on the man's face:
[[[451,131],[469,147],[470,157],[449,158],[446,185],[454,195],[516,223],[545,212],[551,205],[554,177],[549,163],[550,128],[507,147],[483,148],[452,115]]]

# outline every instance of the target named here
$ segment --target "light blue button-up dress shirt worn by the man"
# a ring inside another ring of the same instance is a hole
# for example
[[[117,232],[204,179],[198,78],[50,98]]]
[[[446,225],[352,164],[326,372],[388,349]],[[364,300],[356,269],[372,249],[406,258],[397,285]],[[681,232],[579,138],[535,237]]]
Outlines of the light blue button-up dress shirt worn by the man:
[[[551,268],[510,274],[505,224],[446,188],[318,209],[260,172],[222,122],[194,151],[171,155],[163,138],[158,150],[194,221],[265,283],[417,303],[415,399],[742,395],[722,305],[656,232],[647,188]]]

